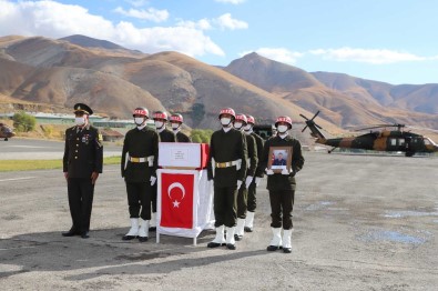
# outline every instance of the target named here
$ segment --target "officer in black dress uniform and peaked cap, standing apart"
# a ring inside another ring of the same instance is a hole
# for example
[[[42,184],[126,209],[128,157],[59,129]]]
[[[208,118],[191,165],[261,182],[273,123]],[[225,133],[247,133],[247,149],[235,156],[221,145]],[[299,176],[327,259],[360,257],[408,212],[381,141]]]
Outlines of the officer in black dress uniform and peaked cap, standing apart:
[[[103,163],[102,136],[90,124],[91,114],[93,111],[86,104],[74,104],[77,126],[65,130],[63,172],[73,225],[63,237],[89,238],[94,185]]]

